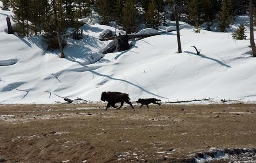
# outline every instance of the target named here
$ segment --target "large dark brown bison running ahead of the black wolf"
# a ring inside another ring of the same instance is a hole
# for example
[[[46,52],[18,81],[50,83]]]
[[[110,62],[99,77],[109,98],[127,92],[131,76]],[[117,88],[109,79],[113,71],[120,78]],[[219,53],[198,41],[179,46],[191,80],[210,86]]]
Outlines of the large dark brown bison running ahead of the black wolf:
[[[131,107],[134,109],[132,103],[130,102],[129,95],[126,93],[121,93],[117,91],[108,91],[108,92],[104,91],[101,93],[101,101],[104,101],[104,102],[108,101],[108,104],[105,110],[107,110],[110,107],[110,105],[116,108],[115,103],[120,103],[120,102],[121,102],[121,105],[117,109],[120,109],[124,102],[126,102],[127,104],[130,104]]]

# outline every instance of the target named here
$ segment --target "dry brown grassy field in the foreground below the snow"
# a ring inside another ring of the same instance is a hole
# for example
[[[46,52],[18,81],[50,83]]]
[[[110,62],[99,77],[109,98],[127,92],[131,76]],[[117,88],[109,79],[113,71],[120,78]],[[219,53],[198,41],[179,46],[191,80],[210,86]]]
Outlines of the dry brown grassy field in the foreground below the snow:
[[[0,162],[193,163],[200,152],[256,147],[256,104],[105,105],[0,105]]]

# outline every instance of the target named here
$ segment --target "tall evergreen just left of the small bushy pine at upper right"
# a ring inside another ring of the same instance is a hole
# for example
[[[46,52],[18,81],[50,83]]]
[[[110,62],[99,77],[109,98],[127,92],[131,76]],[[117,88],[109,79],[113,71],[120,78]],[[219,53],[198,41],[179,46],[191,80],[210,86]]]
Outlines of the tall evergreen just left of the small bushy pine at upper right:
[[[226,32],[226,28],[228,28],[231,23],[231,15],[229,14],[229,10],[225,0],[222,2],[222,8],[218,15],[218,22],[218,30],[220,32]]]

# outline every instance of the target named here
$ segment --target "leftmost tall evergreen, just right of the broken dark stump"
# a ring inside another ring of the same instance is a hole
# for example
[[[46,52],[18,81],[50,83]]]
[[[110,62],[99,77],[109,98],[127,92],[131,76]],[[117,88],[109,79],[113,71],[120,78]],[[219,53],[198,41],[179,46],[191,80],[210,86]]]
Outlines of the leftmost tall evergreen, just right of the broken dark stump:
[[[12,0],[13,7],[13,21],[17,23],[14,31],[18,32],[21,36],[29,34],[29,13],[30,13],[31,0]]]

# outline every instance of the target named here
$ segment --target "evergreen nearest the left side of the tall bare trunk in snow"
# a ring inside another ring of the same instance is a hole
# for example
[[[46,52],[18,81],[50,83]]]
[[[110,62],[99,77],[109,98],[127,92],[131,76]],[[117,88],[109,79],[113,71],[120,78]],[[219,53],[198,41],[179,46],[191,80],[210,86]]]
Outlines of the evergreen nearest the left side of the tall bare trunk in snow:
[[[151,0],[146,12],[146,26],[157,28],[161,22],[160,12],[155,9],[155,0]]]

